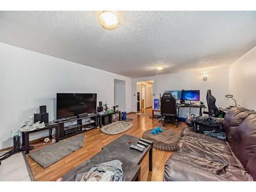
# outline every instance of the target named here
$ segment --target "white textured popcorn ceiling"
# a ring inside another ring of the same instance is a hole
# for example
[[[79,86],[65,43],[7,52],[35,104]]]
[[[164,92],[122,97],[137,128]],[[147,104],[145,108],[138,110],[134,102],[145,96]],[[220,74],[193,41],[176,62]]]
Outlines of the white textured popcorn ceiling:
[[[0,11],[0,41],[129,77],[229,65],[256,46],[256,11],[117,13],[110,31],[96,11]]]

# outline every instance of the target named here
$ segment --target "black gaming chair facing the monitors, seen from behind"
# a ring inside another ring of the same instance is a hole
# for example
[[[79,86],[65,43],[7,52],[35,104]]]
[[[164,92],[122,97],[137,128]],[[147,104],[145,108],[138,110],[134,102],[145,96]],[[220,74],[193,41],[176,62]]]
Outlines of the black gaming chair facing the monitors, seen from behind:
[[[178,127],[178,114],[176,99],[173,97],[172,93],[164,93],[161,97],[161,115],[164,116],[163,126],[165,123],[174,123]]]

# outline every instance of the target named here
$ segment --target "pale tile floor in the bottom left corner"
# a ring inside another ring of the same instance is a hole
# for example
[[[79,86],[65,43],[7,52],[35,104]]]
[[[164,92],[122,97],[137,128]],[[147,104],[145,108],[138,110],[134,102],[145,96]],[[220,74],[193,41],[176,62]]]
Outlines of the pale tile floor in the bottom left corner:
[[[0,181],[31,181],[21,152],[2,161]]]

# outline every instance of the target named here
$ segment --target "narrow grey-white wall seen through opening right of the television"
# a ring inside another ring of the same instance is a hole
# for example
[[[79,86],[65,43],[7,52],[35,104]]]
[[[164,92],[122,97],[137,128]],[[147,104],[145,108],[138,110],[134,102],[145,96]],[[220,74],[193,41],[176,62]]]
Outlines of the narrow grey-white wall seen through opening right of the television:
[[[125,111],[125,81],[115,79],[114,104],[119,105],[119,111]]]

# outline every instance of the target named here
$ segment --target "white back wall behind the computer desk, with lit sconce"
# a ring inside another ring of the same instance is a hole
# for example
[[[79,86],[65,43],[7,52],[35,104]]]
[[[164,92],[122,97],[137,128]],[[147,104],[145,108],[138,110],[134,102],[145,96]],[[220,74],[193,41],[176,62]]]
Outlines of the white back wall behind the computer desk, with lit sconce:
[[[208,79],[203,80],[203,74],[208,74]],[[212,95],[216,97],[218,107],[226,106],[228,99],[225,97],[228,91],[228,66],[208,69],[204,71],[185,71],[182,73],[173,73],[157,75],[157,95],[163,94],[164,90],[200,90],[200,100],[207,105],[206,92],[211,90]]]

